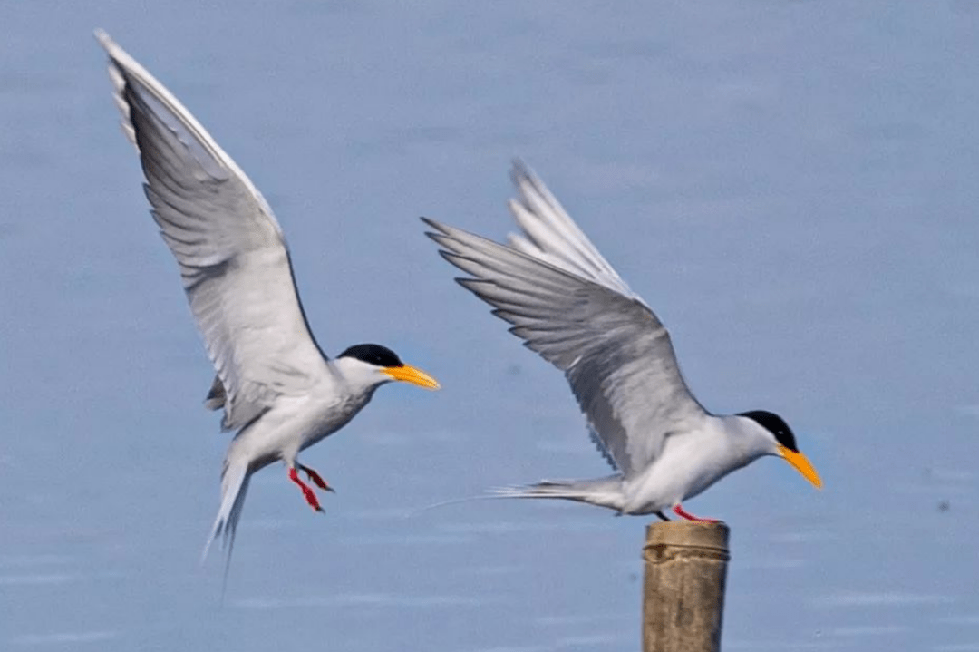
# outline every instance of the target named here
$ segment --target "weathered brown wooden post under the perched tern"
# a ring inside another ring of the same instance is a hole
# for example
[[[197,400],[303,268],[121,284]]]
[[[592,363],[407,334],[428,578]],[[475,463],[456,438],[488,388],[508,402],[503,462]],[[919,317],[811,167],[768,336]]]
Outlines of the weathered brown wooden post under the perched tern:
[[[728,533],[720,522],[671,521],[646,528],[643,652],[721,649]]]

